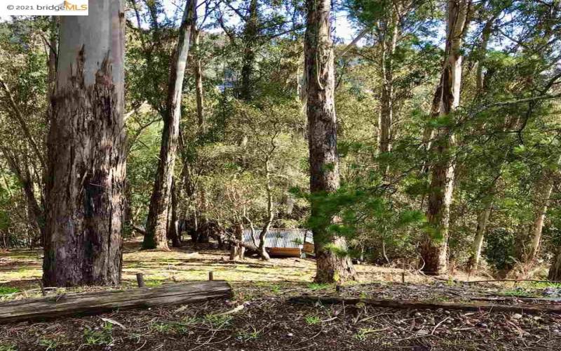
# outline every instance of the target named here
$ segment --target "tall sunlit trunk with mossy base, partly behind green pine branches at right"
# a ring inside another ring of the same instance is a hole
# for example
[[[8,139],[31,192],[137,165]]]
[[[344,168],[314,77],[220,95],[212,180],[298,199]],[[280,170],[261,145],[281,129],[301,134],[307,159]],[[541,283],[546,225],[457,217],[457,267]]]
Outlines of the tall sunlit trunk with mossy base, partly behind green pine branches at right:
[[[446,59],[440,81],[440,115],[454,112],[459,105],[461,86],[461,48],[464,32],[468,25],[468,11],[471,0],[448,1]],[[423,270],[426,274],[440,274],[447,270],[447,240],[450,227],[450,205],[454,191],[454,162],[450,149],[454,145],[454,135],[450,126],[442,126],[435,131],[435,143],[431,150],[438,159],[431,168],[431,185],[428,195],[427,219],[432,230],[426,234],[421,244]]]

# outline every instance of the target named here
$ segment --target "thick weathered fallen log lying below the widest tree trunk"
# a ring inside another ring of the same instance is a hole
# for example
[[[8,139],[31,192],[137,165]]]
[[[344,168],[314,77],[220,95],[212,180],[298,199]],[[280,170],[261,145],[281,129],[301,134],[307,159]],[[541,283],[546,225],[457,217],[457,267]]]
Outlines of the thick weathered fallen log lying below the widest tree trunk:
[[[154,288],[74,293],[0,303],[0,324],[111,310],[195,303],[231,297],[231,286],[222,280],[165,284]]]

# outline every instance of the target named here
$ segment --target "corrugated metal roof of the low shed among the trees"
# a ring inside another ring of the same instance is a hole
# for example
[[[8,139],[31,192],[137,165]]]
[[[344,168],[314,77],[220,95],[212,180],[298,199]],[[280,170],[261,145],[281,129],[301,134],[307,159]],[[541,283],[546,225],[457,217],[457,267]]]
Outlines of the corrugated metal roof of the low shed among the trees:
[[[259,245],[260,228],[255,228],[255,242]],[[243,230],[243,241],[253,243],[251,239],[251,230]],[[307,229],[278,229],[271,228],[265,234],[265,247],[282,247],[287,249],[302,249],[302,244],[313,244],[313,237],[310,230]]]

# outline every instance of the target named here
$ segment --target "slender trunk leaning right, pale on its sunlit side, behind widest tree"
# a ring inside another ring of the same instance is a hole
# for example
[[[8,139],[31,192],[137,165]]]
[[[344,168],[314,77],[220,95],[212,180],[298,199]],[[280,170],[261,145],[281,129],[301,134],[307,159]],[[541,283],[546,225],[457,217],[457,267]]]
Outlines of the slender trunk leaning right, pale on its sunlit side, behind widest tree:
[[[154,190],[152,190],[150,199],[146,234],[142,242],[142,249],[169,250],[167,233],[168,210],[170,208],[172,178],[180,131],[183,79],[189,55],[191,22],[194,18],[195,9],[196,0],[187,1],[177,39],[177,47],[173,54],[168,86],[168,100],[163,118],[160,159],[158,161],[158,170],[156,171],[156,180],[154,181]]]

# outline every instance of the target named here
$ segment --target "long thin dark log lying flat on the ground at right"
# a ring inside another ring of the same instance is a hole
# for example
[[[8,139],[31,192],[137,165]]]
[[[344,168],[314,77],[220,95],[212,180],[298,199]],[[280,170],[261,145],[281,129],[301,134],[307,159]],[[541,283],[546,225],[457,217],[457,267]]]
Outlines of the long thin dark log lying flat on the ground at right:
[[[464,310],[464,311],[494,311],[515,313],[561,313],[561,305],[494,305],[492,303],[448,303],[448,302],[426,302],[411,300],[388,300],[377,298],[338,298],[330,296],[295,296],[290,298],[291,303],[306,304],[338,304],[356,305],[364,303],[376,307],[403,308],[403,309],[429,309],[436,310]]]

